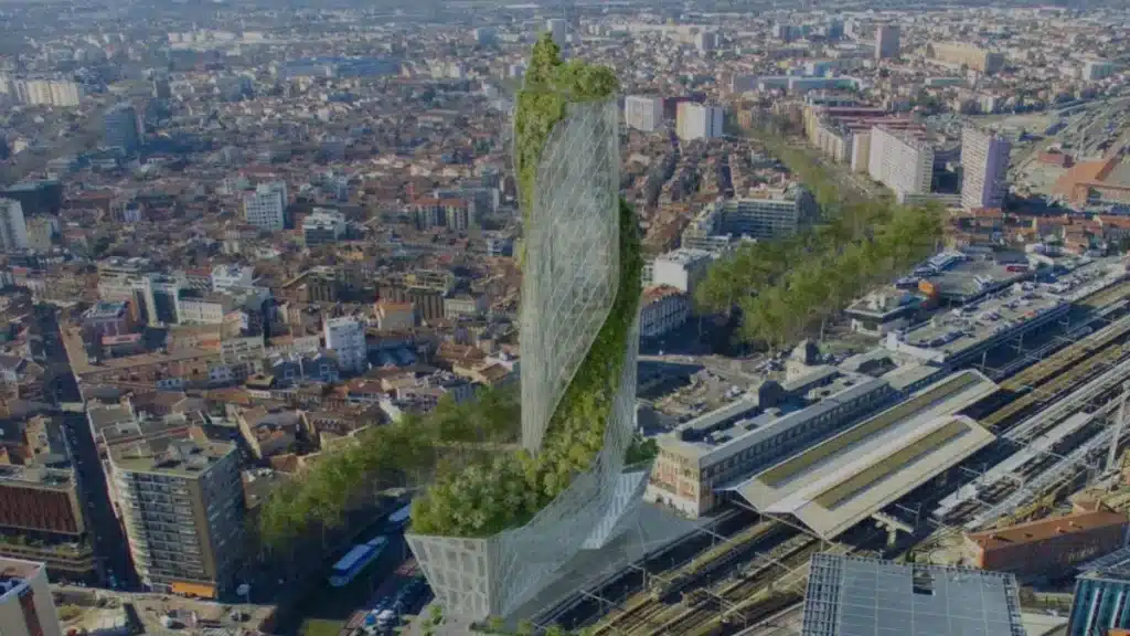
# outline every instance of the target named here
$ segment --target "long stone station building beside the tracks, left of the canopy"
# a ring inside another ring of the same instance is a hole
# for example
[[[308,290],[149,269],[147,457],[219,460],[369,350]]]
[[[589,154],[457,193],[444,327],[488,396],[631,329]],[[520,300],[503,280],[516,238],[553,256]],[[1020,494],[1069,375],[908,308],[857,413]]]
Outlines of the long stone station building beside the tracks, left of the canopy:
[[[679,424],[659,436],[659,455],[644,498],[692,518],[722,504],[721,487],[789,458],[887,403],[885,380],[818,367],[783,384]]]

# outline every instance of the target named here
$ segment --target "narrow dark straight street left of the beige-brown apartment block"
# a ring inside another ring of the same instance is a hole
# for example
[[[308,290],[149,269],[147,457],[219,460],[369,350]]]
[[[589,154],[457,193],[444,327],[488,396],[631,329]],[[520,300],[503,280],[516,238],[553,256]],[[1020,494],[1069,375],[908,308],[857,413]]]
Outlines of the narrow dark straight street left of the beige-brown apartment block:
[[[129,543],[110,502],[106,475],[102,470],[98,448],[82,410],[82,395],[71,372],[59,330],[54,308],[37,307],[36,318],[42,330],[44,356],[49,372],[44,375],[43,395],[55,405],[63,406],[63,433],[71,464],[75,467],[80,505],[84,509],[99,584],[133,590],[137,579],[130,559]]]

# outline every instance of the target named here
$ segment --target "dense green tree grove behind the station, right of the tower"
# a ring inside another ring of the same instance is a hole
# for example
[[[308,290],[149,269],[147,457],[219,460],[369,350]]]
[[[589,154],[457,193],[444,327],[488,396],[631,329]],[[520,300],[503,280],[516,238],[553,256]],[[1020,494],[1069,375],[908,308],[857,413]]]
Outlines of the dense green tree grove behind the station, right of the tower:
[[[814,194],[822,223],[797,237],[739,247],[714,264],[695,300],[705,311],[740,310],[741,340],[776,349],[823,327],[852,299],[930,256],[941,238],[941,214],[935,206],[855,198],[806,152],[762,137]]]

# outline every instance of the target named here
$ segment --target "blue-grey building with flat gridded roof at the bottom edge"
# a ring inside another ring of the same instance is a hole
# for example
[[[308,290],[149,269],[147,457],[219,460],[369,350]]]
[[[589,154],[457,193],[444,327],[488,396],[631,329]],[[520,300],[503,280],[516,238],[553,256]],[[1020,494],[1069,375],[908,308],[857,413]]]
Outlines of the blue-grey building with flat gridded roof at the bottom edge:
[[[1016,577],[822,552],[801,636],[1025,636]]]

